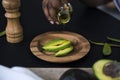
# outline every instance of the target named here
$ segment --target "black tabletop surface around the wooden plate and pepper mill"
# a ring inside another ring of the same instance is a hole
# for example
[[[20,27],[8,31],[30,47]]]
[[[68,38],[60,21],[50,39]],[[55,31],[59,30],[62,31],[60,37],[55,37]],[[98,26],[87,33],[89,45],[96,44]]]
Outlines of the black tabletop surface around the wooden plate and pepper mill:
[[[112,47],[112,54],[104,56],[102,46],[91,45],[89,53],[82,59],[70,63],[50,63],[38,59],[30,51],[34,37],[48,31],[70,31],[83,35],[88,40],[106,42],[107,36],[120,39],[120,21],[96,9],[90,8],[78,0],[70,0],[74,8],[71,21],[66,25],[51,25],[42,11],[42,0],[21,0],[20,21],[24,30],[24,40],[10,44],[6,37],[0,38],[0,64],[24,67],[92,67],[99,59],[120,61],[120,48]],[[0,31],[5,29],[7,20],[0,4]],[[108,41],[109,42],[109,41]],[[119,43],[116,43],[119,44]]]

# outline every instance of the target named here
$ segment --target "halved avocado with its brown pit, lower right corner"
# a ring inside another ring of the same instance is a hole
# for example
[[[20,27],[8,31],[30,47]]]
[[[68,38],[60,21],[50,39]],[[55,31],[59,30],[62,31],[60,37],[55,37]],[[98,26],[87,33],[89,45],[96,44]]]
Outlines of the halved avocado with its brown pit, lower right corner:
[[[101,59],[93,64],[94,74],[99,80],[120,80],[120,75],[115,72],[117,70],[120,74],[120,63],[113,60]],[[113,77],[113,73],[119,76]]]

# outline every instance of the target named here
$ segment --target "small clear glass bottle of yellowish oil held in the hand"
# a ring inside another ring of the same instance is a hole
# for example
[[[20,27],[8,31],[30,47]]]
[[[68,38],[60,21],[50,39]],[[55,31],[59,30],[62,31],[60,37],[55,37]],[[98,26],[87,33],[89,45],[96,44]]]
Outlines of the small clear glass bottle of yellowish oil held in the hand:
[[[64,6],[60,7],[57,18],[61,24],[66,24],[70,21],[73,13],[73,9],[70,3],[64,4]]]

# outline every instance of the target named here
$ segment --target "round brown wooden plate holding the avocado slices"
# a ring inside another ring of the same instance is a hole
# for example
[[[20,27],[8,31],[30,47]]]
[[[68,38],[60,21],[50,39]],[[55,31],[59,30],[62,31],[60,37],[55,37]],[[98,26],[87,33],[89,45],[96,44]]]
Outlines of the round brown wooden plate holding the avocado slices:
[[[57,38],[70,40],[74,46],[74,50],[64,57],[55,57],[53,53],[42,50],[41,47],[46,42]],[[84,57],[90,50],[90,43],[86,38],[77,33],[68,31],[51,31],[36,36],[30,43],[30,49],[39,59],[49,62],[67,63]]]

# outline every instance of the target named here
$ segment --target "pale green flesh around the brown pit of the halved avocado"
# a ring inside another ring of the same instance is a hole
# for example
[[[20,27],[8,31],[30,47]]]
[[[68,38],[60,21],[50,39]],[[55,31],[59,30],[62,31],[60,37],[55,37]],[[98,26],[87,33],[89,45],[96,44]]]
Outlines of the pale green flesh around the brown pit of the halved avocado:
[[[102,60],[98,60],[97,62],[94,63],[93,71],[94,71],[95,76],[99,80],[120,80],[120,76],[119,77],[111,77],[109,75],[106,75],[104,72],[105,65],[108,63],[112,63],[112,62],[116,62],[116,61],[102,59]],[[120,65],[119,65],[119,67],[120,67]]]

